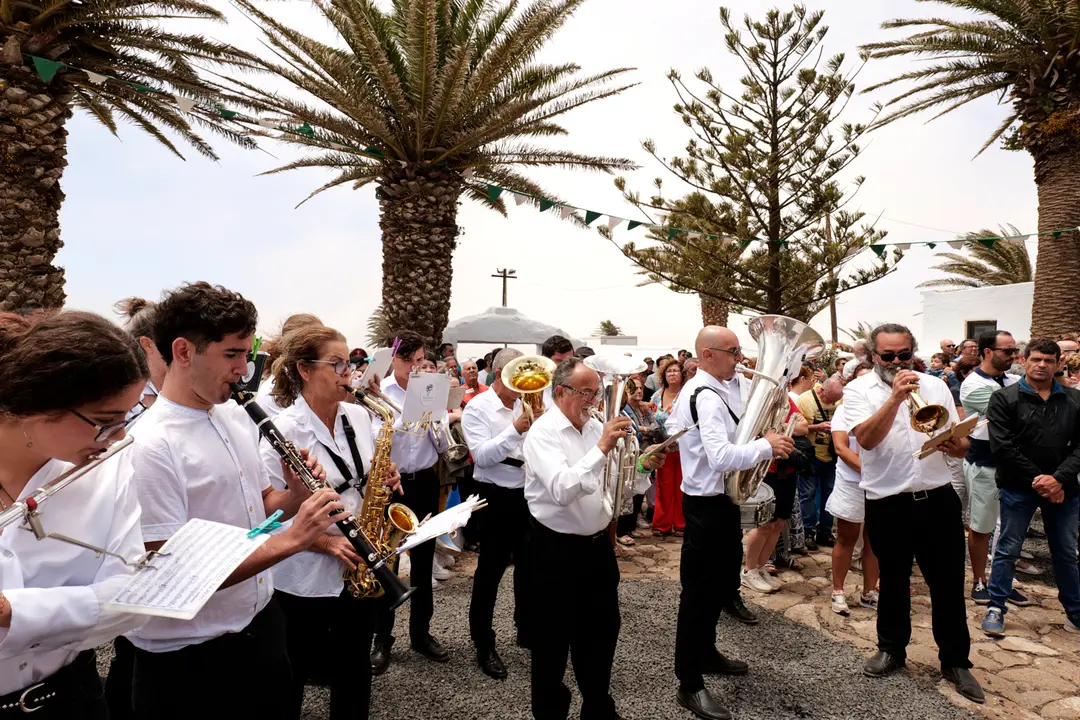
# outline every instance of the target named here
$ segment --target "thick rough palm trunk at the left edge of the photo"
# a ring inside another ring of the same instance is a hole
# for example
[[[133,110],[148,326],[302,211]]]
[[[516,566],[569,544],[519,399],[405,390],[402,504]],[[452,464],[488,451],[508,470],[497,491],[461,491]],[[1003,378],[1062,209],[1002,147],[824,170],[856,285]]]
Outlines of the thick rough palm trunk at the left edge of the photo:
[[[70,94],[0,62],[0,311],[64,307],[59,179]]]

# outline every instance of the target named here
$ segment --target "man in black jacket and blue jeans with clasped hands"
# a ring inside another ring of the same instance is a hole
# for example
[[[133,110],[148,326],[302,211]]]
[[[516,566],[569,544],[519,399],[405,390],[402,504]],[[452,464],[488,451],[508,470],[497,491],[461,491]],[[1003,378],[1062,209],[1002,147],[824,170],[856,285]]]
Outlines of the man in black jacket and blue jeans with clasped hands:
[[[1080,633],[1080,391],[1054,380],[1061,349],[1032,340],[1026,377],[990,396],[990,450],[1001,493],[1001,535],[990,569],[990,603],[983,631],[1004,635],[1005,598],[1012,592],[1020,548],[1035,510],[1042,510],[1065,629]]]

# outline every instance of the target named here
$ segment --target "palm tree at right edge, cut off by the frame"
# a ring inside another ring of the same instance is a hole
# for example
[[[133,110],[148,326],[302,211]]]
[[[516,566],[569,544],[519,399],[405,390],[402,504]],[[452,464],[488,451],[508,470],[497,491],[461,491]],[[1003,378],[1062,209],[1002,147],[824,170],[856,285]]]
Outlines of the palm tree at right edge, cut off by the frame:
[[[924,110],[945,114],[972,100],[997,96],[1010,110],[980,152],[1000,138],[1035,160],[1039,231],[1031,337],[1080,330],[1080,233],[1049,233],[1080,226],[1080,5],[1075,0],[935,0],[975,12],[967,22],[895,19],[885,28],[916,28],[903,39],[863,46],[872,57],[912,56],[918,69],[868,87],[914,83],[889,100],[886,124]],[[1036,312],[1035,309],[1038,309]]]

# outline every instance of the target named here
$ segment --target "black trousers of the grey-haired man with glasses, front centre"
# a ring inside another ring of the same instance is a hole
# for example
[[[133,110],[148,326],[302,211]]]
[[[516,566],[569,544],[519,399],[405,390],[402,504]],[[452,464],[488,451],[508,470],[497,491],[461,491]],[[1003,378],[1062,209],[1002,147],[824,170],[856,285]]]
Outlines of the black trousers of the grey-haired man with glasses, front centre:
[[[486,512],[486,511],[485,511]],[[581,720],[617,720],[611,665],[619,641],[619,565],[607,530],[592,536],[529,527],[536,617],[532,644],[532,717],[566,720],[570,691],[566,658],[581,691]]]

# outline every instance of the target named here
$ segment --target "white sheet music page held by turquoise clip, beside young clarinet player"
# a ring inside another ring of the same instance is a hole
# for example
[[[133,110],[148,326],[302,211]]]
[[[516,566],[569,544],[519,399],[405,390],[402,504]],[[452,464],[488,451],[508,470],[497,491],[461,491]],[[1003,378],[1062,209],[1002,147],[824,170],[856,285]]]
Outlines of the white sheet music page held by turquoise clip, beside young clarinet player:
[[[225,579],[270,535],[247,538],[246,528],[193,518],[168,539],[151,568],[139,570],[108,610],[191,620]]]

